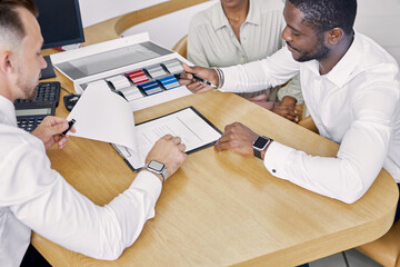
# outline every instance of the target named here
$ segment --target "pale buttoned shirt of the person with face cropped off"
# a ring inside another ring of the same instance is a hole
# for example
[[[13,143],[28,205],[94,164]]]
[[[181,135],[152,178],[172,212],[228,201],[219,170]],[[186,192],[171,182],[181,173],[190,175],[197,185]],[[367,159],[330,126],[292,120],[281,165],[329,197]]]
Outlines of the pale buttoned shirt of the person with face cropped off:
[[[239,41],[219,1],[194,14],[190,21],[188,59],[202,67],[229,67],[264,59],[283,47],[281,32],[284,27],[281,0],[250,0]],[[286,96],[296,98],[297,103],[303,101],[298,77],[284,87],[266,91],[266,95],[271,101],[282,100]]]

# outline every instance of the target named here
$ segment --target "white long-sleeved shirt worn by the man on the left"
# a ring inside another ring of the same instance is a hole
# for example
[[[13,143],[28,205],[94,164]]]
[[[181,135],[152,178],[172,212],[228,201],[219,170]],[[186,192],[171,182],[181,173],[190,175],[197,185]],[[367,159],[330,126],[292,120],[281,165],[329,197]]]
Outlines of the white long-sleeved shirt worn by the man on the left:
[[[116,259],[154,216],[154,175],[141,171],[109,205],[94,205],[51,169],[43,142],[17,128],[13,105],[1,96],[0,148],[0,266],[20,265],[31,229],[70,250]]]

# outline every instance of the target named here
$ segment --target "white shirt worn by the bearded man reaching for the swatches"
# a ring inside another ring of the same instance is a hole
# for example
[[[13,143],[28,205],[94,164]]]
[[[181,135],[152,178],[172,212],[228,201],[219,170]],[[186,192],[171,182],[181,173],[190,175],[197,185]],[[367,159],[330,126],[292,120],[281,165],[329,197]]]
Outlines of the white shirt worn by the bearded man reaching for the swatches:
[[[344,202],[358,200],[382,167],[400,182],[399,68],[368,37],[356,33],[343,58],[323,76],[318,61],[297,62],[287,48],[222,70],[221,91],[233,92],[280,85],[300,72],[304,102],[320,135],[340,144],[334,158],[274,141],[264,157],[272,175]]]

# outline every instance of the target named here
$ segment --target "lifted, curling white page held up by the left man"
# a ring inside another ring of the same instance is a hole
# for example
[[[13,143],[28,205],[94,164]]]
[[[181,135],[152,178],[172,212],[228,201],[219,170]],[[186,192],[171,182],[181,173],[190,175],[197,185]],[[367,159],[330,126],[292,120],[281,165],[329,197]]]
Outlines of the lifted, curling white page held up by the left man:
[[[134,120],[130,105],[111,91],[104,80],[92,82],[67,118],[74,119],[76,134],[68,135],[113,142],[136,149]]]

